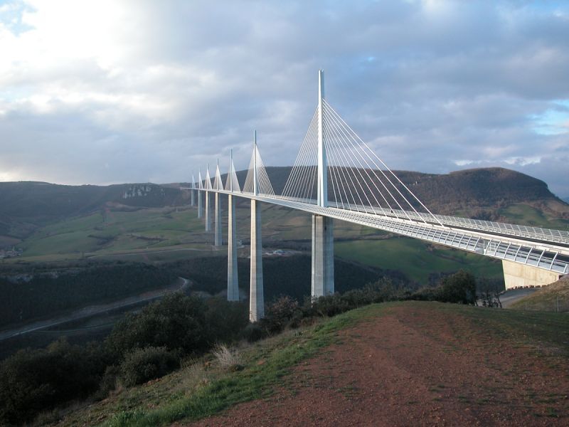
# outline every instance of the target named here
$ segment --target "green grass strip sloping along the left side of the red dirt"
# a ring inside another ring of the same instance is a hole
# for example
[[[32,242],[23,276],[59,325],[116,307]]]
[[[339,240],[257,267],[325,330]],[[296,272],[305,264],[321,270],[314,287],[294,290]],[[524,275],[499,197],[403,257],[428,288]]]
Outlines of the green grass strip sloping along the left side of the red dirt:
[[[266,398],[275,387],[286,385],[284,378],[292,367],[336,342],[337,331],[368,316],[382,315],[387,307],[363,307],[252,344],[240,350],[243,369],[238,371],[218,363],[194,361],[159,381],[124,390],[90,406],[88,411],[77,411],[63,425],[164,426],[174,421],[194,421],[240,402]]]

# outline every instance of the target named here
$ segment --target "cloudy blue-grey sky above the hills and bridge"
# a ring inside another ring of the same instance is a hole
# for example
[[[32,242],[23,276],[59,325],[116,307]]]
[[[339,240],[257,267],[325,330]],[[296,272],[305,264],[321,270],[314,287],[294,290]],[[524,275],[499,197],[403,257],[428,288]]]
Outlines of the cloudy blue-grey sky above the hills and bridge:
[[[569,196],[569,2],[0,0],[0,181],[292,165],[326,100],[392,169]]]

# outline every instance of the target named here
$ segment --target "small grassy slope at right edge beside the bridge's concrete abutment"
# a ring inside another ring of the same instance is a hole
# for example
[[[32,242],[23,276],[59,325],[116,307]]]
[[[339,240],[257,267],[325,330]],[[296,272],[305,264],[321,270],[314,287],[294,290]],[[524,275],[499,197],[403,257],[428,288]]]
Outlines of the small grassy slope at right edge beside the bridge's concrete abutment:
[[[511,308],[569,312],[569,275],[514,302]]]

